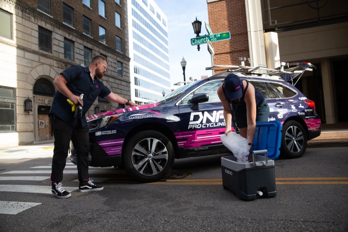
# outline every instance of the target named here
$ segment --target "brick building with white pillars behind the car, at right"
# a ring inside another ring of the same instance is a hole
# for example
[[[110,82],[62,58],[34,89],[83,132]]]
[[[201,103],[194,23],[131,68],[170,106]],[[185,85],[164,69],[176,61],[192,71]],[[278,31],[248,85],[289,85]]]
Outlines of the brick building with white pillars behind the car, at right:
[[[322,123],[348,122],[347,0],[207,0],[214,34],[230,31],[231,39],[213,43],[215,65],[268,68],[280,62],[310,62],[317,69],[296,84],[316,102]],[[246,65],[249,65],[248,62]],[[215,69],[215,73],[224,72]]]

